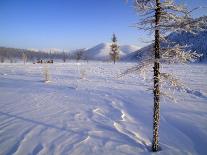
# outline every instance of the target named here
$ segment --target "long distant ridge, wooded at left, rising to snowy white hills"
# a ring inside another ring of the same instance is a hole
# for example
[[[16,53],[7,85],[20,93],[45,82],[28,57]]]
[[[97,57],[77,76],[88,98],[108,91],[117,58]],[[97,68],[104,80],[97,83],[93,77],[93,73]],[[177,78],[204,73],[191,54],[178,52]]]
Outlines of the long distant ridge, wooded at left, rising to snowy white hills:
[[[109,61],[109,53],[111,51],[111,43],[101,43],[90,49],[76,49],[70,52],[60,52],[55,50],[38,51],[34,49],[18,49],[0,47],[0,61],[1,62],[17,62],[21,61],[22,54],[26,54],[27,60],[35,62],[38,59],[48,60],[56,59],[63,60],[73,59],[76,60],[96,60],[96,61]],[[120,60],[129,53],[137,51],[139,48],[134,45],[123,45],[120,46]]]

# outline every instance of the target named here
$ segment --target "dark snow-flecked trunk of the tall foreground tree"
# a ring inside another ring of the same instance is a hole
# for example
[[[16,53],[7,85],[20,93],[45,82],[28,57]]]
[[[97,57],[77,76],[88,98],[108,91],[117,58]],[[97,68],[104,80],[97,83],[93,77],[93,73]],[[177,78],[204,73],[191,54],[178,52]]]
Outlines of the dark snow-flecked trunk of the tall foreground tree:
[[[153,142],[152,151],[156,152],[159,150],[159,122],[160,122],[160,0],[156,0],[156,10],[155,10],[155,61],[154,61],[154,114],[153,114]]]

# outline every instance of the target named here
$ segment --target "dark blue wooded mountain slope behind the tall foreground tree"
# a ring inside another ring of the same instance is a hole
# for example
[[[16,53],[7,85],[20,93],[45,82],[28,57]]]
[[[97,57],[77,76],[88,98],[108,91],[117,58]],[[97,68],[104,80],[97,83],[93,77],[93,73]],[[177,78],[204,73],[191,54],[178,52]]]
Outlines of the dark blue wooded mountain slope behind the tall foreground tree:
[[[207,21],[207,17],[201,17]],[[195,30],[194,33],[190,32],[173,32],[167,36],[168,40],[180,45],[187,45],[186,50],[196,51],[203,56],[198,60],[199,62],[207,61],[207,27],[204,31]],[[166,46],[166,44],[161,44],[161,46]],[[139,61],[147,57],[152,56],[153,45],[148,45],[143,47],[133,53],[125,56],[127,61]]]

